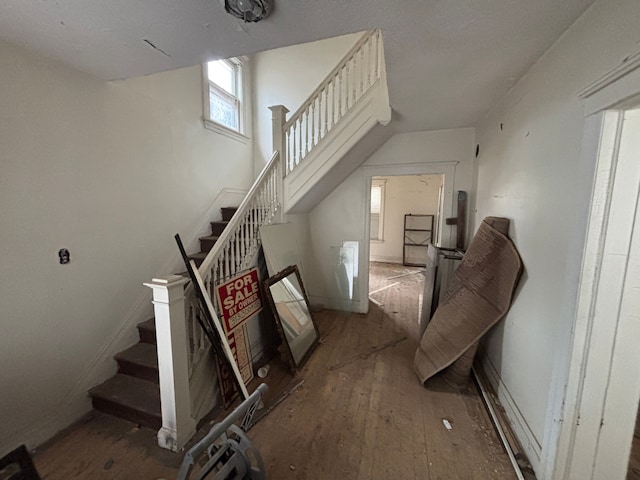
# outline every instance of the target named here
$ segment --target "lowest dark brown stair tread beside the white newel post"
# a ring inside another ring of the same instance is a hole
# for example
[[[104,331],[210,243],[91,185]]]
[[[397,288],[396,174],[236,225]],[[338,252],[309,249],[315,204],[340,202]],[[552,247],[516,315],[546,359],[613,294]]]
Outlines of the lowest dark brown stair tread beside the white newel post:
[[[118,373],[106,382],[93,387],[89,393],[94,398],[161,417],[160,387],[153,382]]]

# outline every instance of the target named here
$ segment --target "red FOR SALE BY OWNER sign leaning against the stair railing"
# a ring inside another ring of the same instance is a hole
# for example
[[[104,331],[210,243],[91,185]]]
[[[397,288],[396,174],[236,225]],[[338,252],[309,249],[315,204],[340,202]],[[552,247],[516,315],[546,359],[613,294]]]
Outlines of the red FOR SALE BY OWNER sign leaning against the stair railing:
[[[218,285],[216,291],[227,332],[233,331],[262,309],[257,268]]]

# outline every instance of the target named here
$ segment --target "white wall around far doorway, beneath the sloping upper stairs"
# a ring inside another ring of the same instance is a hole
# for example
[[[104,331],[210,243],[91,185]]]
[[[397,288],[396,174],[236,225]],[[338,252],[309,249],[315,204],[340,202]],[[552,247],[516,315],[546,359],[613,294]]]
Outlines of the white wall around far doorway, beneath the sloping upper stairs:
[[[372,176],[382,172],[388,175],[388,169],[394,174],[435,174],[446,167],[453,172],[453,190],[465,190],[473,196],[474,142],[473,128],[394,135],[314,208],[309,213],[310,238],[318,264],[309,279],[313,302],[355,312],[368,310],[368,279],[363,276],[369,271],[366,200]],[[357,241],[360,246],[359,278],[351,299],[341,295],[336,279],[336,247],[343,241]]]

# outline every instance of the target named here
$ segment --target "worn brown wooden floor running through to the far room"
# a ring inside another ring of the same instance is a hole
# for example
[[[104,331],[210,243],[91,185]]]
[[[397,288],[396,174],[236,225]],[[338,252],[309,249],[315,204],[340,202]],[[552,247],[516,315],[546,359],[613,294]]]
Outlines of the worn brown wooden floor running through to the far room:
[[[516,478],[473,383],[427,389],[413,372],[422,281],[418,268],[372,264],[368,315],[316,314],[304,383],[249,432],[270,479]],[[96,413],[34,460],[52,480],[172,479],[181,456]]]

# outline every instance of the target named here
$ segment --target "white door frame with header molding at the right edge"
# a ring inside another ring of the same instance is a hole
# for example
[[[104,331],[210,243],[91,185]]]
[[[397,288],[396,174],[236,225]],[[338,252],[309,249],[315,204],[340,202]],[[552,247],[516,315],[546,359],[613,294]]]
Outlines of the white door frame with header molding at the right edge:
[[[556,389],[563,395],[555,402],[554,414],[548,420],[552,423],[548,425],[551,441],[543,448],[543,478],[586,480],[598,478],[602,472],[611,479],[626,476],[629,450],[625,447],[630,437],[628,428],[620,426],[635,423],[638,399],[622,399],[621,389],[615,384],[620,368],[616,357],[628,351],[635,339],[618,335],[623,325],[619,310],[613,322],[611,310],[603,311],[603,307],[617,302],[619,309],[625,290],[624,281],[612,282],[608,277],[620,273],[620,259],[607,254],[607,234],[615,234],[616,243],[628,247],[625,276],[634,241],[631,226],[637,220],[636,202],[616,204],[615,209],[612,202],[620,194],[620,179],[627,175],[617,169],[618,153],[624,111],[639,102],[639,67],[640,55],[636,55],[633,61],[608,72],[579,94],[585,106],[582,157],[595,164],[596,171],[568,369],[566,376],[559,372],[555,379],[563,383]],[[637,193],[633,198],[637,199]],[[627,367],[630,378],[640,375],[640,361],[636,363]],[[613,405],[623,405],[618,418],[610,416]]]

